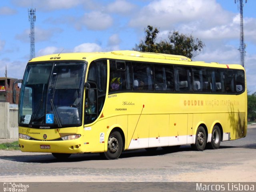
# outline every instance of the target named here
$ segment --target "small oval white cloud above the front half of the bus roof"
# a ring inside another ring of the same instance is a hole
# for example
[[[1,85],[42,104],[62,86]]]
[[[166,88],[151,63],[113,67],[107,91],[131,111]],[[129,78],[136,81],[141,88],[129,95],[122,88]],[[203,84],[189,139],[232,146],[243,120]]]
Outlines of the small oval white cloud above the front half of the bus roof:
[[[93,11],[84,14],[80,23],[84,24],[90,30],[105,30],[112,26],[113,19],[108,14]],[[78,26],[78,24],[76,26]]]

